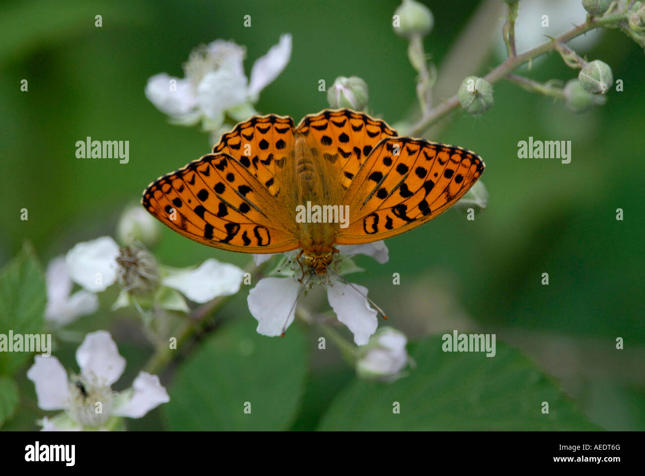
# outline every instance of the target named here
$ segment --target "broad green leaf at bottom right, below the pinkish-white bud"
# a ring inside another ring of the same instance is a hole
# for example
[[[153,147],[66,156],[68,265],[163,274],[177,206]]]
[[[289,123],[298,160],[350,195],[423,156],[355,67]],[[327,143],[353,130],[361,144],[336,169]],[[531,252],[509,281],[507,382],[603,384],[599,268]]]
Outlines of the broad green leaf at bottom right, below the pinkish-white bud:
[[[526,357],[497,342],[497,353],[443,352],[421,342],[417,368],[385,384],[355,381],[332,402],[321,430],[600,430]],[[542,413],[542,402],[549,413]],[[400,413],[393,412],[399,402]]]

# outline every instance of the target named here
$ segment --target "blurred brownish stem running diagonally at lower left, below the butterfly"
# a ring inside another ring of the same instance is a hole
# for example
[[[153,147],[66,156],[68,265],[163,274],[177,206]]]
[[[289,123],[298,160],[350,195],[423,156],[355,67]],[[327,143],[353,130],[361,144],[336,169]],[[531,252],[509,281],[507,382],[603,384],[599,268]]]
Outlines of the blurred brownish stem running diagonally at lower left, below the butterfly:
[[[265,264],[266,263],[263,263],[260,266],[255,266],[255,263],[250,263],[244,268],[244,272],[251,273],[251,281],[255,282],[263,272]],[[215,297],[212,301],[208,301],[198,308],[195,308],[173,332],[173,337],[177,337],[177,348],[171,349],[168,342],[162,342],[161,345],[157,346],[155,353],[148,360],[144,370],[152,374],[159,373],[161,369],[172,361],[175,355],[177,355],[177,350],[179,350],[186,341],[204,330],[206,325],[210,322],[209,317],[212,313],[220,310],[232,297],[232,295]]]

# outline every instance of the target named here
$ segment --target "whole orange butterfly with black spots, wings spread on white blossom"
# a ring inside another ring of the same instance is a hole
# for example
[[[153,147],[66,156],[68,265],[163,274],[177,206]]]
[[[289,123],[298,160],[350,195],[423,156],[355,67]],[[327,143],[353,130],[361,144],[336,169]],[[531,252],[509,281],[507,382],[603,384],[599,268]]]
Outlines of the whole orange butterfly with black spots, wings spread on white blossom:
[[[335,245],[417,228],[455,204],[483,171],[470,150],[399,137],[362,112],[326,109],[295,128],[288,116],[255,115],[224,134],[212,154],[148,185],[141,203],[175,232],[214,248],[301,249],[301,268],[304,254],[321,275]]]

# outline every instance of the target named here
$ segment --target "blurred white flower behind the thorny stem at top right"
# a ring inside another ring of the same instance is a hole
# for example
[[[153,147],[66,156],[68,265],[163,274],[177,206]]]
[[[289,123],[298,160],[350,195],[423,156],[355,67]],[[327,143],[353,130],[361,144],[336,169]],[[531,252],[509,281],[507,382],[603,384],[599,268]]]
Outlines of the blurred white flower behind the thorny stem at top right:
[[[548,26],[542,26],[548,16]],[[531,0],[519,3],[517,21],[515,21],[515,48],[518,54],[524,53],[535,46],[551,41],[548,37],[556,37],[575,25],[586,21],[587,12],[578,0]],[[567,45],[578,53],[591,50],[598,43],[602,28],[588,32],[571,40]],[[495,45],[495,52],[501,59],[506,58],[506,45],[502,35]],[[541,61],[542,57],[533,60]]]

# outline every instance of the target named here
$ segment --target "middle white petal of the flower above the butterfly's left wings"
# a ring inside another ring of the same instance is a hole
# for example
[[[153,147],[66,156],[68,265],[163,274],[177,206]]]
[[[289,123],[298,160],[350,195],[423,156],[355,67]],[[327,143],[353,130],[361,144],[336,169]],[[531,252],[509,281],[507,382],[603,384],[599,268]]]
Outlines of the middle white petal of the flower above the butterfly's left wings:
[[[223,117],[228,108],[246,102],[246,76],[232,70],[220,69],[204,75],[197,86],[197,102],[204,115]]]

